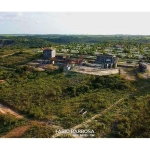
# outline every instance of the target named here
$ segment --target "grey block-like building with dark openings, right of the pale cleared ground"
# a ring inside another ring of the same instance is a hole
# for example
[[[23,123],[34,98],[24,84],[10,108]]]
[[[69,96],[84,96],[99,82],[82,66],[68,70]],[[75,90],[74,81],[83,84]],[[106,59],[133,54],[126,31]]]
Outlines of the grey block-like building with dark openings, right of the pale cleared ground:
[[[96,58],[96,63],[101,64],[102,68],[116,68],[118,58],[114,55],[100,54]]]

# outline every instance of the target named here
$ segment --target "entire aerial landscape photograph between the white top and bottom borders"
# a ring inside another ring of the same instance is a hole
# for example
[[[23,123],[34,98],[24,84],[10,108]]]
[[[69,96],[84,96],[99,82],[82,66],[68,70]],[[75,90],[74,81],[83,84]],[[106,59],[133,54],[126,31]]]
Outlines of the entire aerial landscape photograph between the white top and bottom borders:
[[[0,138],[150,138],[149,16],[0,12]]]

